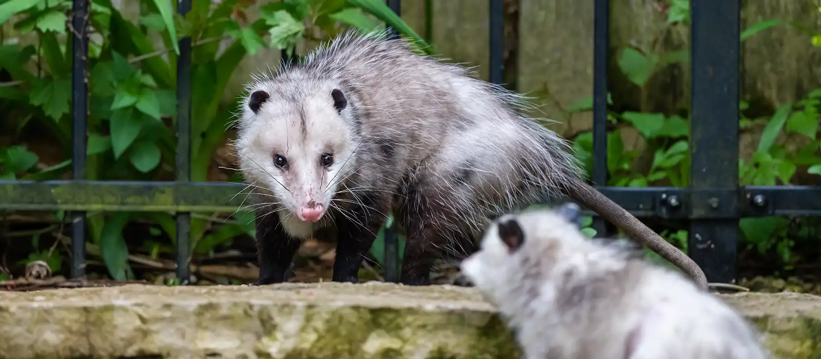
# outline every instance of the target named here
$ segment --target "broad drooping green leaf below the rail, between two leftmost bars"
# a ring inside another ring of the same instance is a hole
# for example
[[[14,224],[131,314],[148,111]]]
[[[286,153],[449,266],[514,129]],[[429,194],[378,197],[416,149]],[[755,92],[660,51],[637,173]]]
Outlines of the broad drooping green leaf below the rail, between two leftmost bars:
[[[122,229],[129,220],[128,212],[113,212],[103,225],[100,235],[100,254],[108,273],[116,280],[125,280],[128,266],[128,247],[122,238]]]

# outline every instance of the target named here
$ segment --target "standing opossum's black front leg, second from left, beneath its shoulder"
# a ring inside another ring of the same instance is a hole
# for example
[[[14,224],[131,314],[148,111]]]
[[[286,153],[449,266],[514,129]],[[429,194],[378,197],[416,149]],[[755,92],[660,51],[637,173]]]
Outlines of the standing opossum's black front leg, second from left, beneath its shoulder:
[[[359,270],[365,253],[374,244],[379,228],[387,220],[388,199],[373,193],[357,193],[361,206],[346,209],[335,217],[337,223],[337,253],[333,261],[334,282],[359,283]]]

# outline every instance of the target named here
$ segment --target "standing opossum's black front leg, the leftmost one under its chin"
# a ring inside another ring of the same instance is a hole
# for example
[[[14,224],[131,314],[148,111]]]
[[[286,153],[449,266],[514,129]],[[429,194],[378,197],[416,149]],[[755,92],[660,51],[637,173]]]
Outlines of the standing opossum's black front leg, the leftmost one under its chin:
[[[286,271],[290,272],[291,261],[302,241],[285,233],[276,213],[268,212],[262,215],[260,211],[268,210],[263,208],[257,211],[259,279],[253,285],[282,283],[286,279]]]

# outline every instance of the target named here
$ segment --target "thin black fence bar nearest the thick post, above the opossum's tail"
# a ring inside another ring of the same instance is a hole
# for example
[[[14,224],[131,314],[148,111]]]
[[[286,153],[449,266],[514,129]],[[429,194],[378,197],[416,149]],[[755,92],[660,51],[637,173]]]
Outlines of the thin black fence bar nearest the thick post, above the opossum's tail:
[[[593,40],[593,184],[608,183],[608,48],[610,47],[610,0],[594,4]],[[607,235],[605,220],[596,216],[593,228]]]

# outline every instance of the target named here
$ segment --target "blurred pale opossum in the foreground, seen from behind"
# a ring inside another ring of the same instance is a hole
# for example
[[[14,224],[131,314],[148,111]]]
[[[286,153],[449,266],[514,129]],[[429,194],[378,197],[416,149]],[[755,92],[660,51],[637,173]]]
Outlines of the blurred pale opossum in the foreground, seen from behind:
[[[527,358],[770,357],[735,308],[631,243],[585,238],[570,206],[498,217],[461,261]]]

